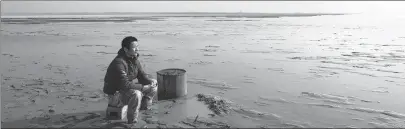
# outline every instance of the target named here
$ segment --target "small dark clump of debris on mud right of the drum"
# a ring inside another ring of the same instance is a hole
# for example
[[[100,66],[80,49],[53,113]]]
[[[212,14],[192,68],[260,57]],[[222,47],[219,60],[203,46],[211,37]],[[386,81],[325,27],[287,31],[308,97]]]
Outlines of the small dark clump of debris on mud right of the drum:
[[[217,115],[228,114],[231,111],[231,102],[218,96],[197,94],[198,101],[203,101],[208,108]]]

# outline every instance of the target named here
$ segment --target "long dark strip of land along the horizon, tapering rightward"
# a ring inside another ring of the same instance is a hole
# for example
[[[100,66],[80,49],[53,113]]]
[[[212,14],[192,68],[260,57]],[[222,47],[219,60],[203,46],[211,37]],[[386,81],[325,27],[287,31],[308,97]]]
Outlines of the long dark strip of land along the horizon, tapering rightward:
[[[100,14],[100,13],[98,13]],[[210,18],[280,18],[280,17],[312,17],[323,15],[346,15],[330,13],[103,13],[102,15],[52,14],[29,16],[2,16],[5,24],[46,24],[61,22],[134,22],[137,20],[164,21],[170,17],[210,17]]]

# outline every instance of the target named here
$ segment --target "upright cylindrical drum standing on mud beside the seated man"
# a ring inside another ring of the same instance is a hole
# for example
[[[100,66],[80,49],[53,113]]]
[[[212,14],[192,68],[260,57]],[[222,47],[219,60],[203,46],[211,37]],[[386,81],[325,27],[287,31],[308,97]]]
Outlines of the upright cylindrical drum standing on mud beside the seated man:
[[[158,100],[174,99],[187,95],[186,70],[170,68],[157,72]]]

